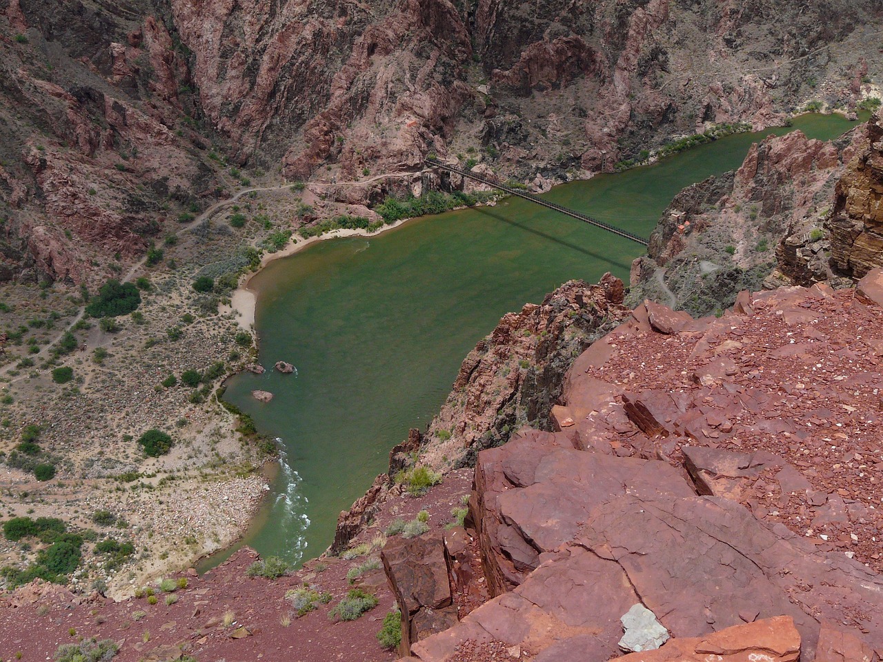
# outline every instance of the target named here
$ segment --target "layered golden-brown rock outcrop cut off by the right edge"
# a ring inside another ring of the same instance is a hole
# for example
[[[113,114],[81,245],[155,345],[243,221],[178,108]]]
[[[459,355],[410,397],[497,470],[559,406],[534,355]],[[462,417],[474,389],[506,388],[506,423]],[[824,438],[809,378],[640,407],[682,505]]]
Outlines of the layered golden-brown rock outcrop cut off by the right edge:
[[[883,119],[878,113],[864,130],[864,149],[849,162],[837,184],[828,227],[831,261],[842,274],[861,278],[883,267]]]

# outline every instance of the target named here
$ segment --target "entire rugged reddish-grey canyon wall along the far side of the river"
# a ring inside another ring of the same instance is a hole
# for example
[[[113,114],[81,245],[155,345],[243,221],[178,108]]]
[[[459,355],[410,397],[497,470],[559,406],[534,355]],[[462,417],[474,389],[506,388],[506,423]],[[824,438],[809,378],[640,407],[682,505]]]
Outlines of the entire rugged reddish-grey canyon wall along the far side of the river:
[[[871,0],[10,0],[0,271],[76,281],[143,250],[215,191],[218,152],[343,180],[468,152],[532,181],[811,97],[849,105],[879,74],[879,21]]]

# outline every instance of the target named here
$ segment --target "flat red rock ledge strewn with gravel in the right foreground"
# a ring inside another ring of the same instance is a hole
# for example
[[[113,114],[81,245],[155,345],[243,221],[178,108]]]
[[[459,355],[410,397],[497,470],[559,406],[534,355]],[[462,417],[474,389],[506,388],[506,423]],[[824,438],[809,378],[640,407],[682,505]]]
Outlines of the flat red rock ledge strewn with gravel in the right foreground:
[[[643,604],[672,639],[624,659],[876,660],[881,304],[878,270],[745,292],[722,318],[639,306],[570,369],[558,432],[479,453],[470,534],[495,597],[402,652],[609,658]]]

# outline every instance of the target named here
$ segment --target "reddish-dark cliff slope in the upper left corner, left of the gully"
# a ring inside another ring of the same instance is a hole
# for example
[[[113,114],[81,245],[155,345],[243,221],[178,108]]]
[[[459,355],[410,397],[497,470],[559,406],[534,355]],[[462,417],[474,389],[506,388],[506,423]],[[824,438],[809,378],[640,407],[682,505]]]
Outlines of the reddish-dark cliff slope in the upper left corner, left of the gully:
[[[215,188],[160,10],[12,0],[0,14],[4,280],[85,282]]]

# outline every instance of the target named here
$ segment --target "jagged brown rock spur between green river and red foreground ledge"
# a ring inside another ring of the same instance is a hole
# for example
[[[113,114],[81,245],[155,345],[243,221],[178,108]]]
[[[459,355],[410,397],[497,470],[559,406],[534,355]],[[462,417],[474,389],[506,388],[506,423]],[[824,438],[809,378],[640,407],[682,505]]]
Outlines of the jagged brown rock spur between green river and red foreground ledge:
[[[460,367],[453,391],[421,440],[434,468],[472,466],[522,425],[548,429],[564,373],[575,357],[629,314],[623,282],[564,283],[540,305],[509,313]]]

